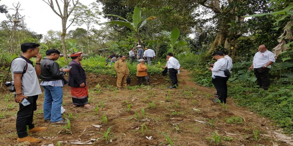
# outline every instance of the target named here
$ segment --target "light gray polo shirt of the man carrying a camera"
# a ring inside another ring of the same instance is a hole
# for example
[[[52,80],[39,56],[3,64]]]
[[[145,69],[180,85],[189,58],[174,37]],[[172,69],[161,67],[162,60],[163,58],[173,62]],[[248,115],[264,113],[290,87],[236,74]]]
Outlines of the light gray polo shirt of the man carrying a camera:
[[[14,80],[14,73],[22,73],[25,66],[26,66],[26,61],[22,58],[16,58],[15,60],[12,61],[11,63],[12,81]],[[30,63],[28,63],[26,73],[23,74],[21,78],[21,92],[25,96],[35,96],[35,95],[42,94],[41,87],[39,85],[39,80],[36,75],[36,70],[34,66]]]

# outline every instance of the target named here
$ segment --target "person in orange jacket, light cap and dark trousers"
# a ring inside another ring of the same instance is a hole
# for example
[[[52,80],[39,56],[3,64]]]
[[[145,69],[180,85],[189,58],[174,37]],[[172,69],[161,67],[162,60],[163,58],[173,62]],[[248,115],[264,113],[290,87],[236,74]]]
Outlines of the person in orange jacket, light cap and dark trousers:
[[[147,75],[147,66],[144,64],[145,60],[138,60],[139,64],[136,66],[136,76],[138,77],[138,84],[141,85],[143,83],[143,79],[146,80],[147,86],[149,86],[149,76]]]

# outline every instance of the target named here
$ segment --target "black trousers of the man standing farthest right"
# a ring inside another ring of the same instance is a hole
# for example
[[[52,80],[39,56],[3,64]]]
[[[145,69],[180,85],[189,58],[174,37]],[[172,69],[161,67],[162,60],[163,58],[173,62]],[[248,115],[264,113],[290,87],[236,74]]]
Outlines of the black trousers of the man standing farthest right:
[[[261,86],[264,90],[269,89],[269,70],[270,68],[255,68],[254,75],[257,77],[257,85]]]

